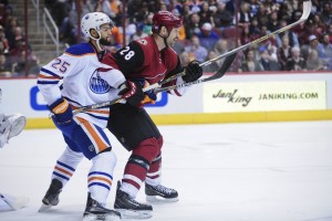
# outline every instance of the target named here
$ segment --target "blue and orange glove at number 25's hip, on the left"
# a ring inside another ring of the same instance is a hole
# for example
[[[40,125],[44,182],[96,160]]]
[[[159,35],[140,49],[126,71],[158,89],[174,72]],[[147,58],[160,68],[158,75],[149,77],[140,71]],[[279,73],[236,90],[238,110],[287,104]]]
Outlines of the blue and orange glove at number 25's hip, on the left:
[[[54,120],[59,125],[66,125],[73,120],[73,112],[68,101],[61,97],[49,106],[51,112],[54,114]]]

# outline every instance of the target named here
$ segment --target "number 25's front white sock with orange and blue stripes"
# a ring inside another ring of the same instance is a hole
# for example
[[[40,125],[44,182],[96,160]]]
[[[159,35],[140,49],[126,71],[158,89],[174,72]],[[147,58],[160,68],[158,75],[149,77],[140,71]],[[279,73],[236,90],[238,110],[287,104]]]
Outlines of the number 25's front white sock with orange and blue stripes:
[[[116,156],[113,151],[98,154],[92,158],[92,167],[87,177],[87,187],[92,199],[106,206],[106,200],[113,182],[113,170]]]

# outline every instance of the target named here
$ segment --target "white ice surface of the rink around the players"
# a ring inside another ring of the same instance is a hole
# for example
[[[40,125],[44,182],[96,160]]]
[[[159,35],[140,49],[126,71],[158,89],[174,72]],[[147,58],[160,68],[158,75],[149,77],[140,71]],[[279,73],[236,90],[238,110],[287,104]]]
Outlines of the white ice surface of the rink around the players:
[[[156,221],[332,220],[332,122],[159,126],[163,183],[175,203],[154,204]],[[111,136],[111,135],[110,135]],[[128,152],[118,156],[114,180]],[[79,166],[60,204],[39,213],[55,160],[64,148],[56,129],[23,130],[0,149],[0,192],[30,197],[28,207],[0,212],[1,221],[79,221],[90,161]],[[113,207],[115,188],[107,206]],[[144,189],[138,200],[145,201]]]

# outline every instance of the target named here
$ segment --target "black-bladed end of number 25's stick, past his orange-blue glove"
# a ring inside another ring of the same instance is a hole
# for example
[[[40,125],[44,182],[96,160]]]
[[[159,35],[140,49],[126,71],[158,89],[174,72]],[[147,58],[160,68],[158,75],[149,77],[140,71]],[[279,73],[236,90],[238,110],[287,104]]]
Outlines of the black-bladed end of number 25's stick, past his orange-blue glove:
[[[209,77],[206,77],[206,78],[203,78],[203,80],[197,80],[195,82],[176,84],[176,85],[172,85],[172,86],[167,86],[167,87],[156,88],[155,93],[172,91],[172,90],[181,88],[181,87],[190,86],[190,85],[194,85],[194,84],[200,84],[200,83],[204,83],[204,82],[209,82],[209,81],[212,81],[212,80],[220,78],[225,75],[227,70],[230,67],[230,65],[232,64],[236,56],[237,56],[237,54],[235,54],[235,53],[227,56],[225,59],[221,67],[212,76],[209,76]]]

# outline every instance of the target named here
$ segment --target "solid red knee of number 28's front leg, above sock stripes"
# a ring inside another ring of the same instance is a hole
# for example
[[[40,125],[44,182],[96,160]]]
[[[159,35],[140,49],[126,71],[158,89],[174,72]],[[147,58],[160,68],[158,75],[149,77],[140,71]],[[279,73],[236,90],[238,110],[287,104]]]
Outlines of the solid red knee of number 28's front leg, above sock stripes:
[[[133,155],[146,159],[149,164],[160,152],[158,140],[154,137],[143,140],[134,150]]]

